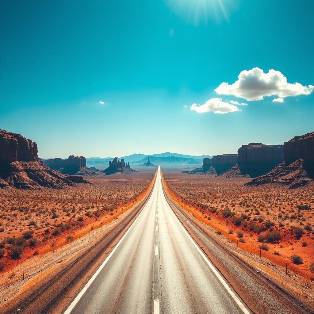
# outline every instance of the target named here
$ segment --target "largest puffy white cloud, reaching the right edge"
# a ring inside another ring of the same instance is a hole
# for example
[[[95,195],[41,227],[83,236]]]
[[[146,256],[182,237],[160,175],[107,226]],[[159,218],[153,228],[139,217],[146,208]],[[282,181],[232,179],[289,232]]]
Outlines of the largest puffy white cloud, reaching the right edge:
[[[300,83],[288,83],[287,78],[279,71],[260,68],[244,70],[233,83],[221,83],[215,92],[219,95],[233,95],[246,100],[262,100],[264,96],[278,96],[280,98],[297,95],[310,95],[313,85],[303,86]]]

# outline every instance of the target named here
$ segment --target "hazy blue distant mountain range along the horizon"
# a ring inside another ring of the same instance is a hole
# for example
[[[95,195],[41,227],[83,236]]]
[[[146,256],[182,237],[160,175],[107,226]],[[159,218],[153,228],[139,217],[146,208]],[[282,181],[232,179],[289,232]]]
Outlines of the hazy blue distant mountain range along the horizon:
[[[150,161],[156,165],[159,164],[202,164],[203,158],[211,158],[210,155],[185,155],[178,153],[162,153],[162,154],[132,154],[128,156],[118,157],[118,159],[124,159],[125,162],[130,164],[142,165],[147,162],[147,157]],[[100,158],[100,157],[88,157],[86,158],[87,165],[109,165],[109,160],[113,160],[113,157]]]

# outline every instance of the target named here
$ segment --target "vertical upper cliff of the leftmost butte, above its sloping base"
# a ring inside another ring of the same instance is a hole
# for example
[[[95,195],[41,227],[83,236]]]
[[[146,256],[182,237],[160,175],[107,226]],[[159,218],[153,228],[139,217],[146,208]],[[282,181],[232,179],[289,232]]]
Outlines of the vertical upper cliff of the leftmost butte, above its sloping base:
[[[0,165],[14,161],[37,161],[37,144],[21,134],[0,130]]]

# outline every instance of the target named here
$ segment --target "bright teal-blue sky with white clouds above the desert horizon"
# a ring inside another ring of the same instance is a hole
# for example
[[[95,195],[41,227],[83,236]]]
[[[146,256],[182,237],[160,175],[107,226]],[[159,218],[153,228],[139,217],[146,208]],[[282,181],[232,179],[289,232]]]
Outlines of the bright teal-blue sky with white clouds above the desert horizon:
[[[236,153],[313,131],[314,2],[189,3],[2,1],[0,128],[43,158]]]

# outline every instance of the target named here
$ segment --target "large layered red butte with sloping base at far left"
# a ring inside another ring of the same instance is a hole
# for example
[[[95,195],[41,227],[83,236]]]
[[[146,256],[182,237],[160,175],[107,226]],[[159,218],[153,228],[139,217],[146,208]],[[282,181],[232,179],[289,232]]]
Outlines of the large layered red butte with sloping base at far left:
[[[66,186],[74,186],[74,183],[38,162],[35,142],[0,130],[0,187],[33,190]]]

